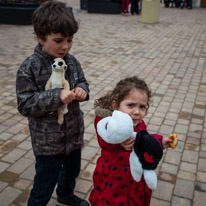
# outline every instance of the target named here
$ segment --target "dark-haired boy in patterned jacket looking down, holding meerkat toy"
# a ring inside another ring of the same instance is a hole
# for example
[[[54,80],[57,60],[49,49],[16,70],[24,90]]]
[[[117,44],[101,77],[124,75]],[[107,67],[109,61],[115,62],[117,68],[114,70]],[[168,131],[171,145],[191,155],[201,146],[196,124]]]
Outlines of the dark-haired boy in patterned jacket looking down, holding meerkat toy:
[[[71,9],[62,2],[47,1],[33,13],[32,23],[38,44],[17,72],[16,93],[19,112],[28,117],[36,158],[34,185],[29,206],[45,206],[57,183],[57,205],[88,206],[74,195],[80,172],[84,122],[79,101],[89,99],[88,83],[80,63],[68,52],[78,30]],[[45,91],[54,58],[67,64],[65,79],[71,90]],[[64,122],[57,122],[57,108],[68,104]]]

